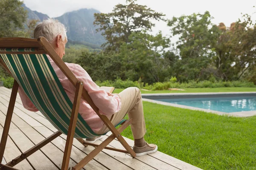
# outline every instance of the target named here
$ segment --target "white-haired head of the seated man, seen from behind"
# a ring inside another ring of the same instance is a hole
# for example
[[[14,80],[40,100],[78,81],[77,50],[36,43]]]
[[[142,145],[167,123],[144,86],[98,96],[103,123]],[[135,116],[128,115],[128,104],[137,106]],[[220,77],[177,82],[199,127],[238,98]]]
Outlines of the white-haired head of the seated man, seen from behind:
[[[61,22],[49,18],[35,27],[34,38],[45,37],[62,59],[65,55],[65,45],[67,43],[66,32],[65,26]]]

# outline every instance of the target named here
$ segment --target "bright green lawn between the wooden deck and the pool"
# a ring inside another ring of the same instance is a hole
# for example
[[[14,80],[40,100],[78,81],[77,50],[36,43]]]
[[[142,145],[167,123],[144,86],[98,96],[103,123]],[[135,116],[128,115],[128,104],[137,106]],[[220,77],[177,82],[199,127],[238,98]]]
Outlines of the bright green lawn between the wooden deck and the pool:
[[[256,170],[256,116],[219,116],[150,102],[143,106],[145,139],[159,151],[204,170]],[[130,128],[123,135],[133,139]]]

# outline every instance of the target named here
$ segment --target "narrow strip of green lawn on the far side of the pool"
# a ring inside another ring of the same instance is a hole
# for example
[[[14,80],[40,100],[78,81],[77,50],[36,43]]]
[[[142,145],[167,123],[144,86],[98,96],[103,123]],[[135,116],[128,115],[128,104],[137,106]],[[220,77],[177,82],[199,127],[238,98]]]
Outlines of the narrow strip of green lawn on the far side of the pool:
[[[124,89],[117,88],[113,93],[120,93]],[[246,92],[256,91],[256,88],[184,88],[185,91],[143,91],[143,94],[149,93],[206,93],[206,92]]]

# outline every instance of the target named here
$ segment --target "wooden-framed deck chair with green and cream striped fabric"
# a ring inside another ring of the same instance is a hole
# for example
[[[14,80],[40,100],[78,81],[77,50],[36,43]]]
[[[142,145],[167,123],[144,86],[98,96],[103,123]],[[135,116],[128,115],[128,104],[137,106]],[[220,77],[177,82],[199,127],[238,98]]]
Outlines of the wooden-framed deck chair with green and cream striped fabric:
[[[73,104],[64,91],[64,88],[50,65],[46,54],[52,58],[70,82],[72,82],[76,87]],[[99,114],[99,109],[94,105],[87,91],[83,88],[83,82],[76,79],[67,65],[65,65],[44,37],[40,37],[38,39],[0,38],[0,64],[15,79],[0,143],[0,162],[2,162],[3,153],[6,147],[18,87],[24,90],[36,108],[38,108],[38,110],[41,111],[49,122],[51,122],[51,124],[58,130],[47,139],[36,144],[34,147],[22,153],[6,165],[0,164],[0,169],[2,167],[3,169],[13,170],[13,166],[15,166],[15,164],[26,159],[32,153],[35,153],[62,133],[67,135],[67,142],[65,145],[61,170],[67,170],[69,168],[68,165],[73,138],[76,138],[85,147],[88,145],[96,147],[84,159],[72,167],[73,170],[80,170],[102,149],[129,153],[132,157],[136,156],[128,143],[120,135],[120,133],[131,124],[131,119],[120,122],[122,126],[116,129],[107,116]],[[87,143],[83,140],[84,138],[90,138],[98,135],[90,129],[78,113],[81,97],[90,104],[93,110],[99,115],[105,125],[112,132],[111,136],[99,145]],[[126,150],[107,147],[107,145],[115,138],[118,139]]]

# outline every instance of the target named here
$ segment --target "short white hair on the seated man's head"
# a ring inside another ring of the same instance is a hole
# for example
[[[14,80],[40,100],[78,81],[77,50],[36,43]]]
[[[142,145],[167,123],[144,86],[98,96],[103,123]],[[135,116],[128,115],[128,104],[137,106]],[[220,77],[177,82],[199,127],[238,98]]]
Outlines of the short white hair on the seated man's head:
[[[50,43],[54,42],[58,35],[62,40],[67,40],[66,27],[56,19],[48,18],[38,23],[34,30],[34,38],[45,37]]]

